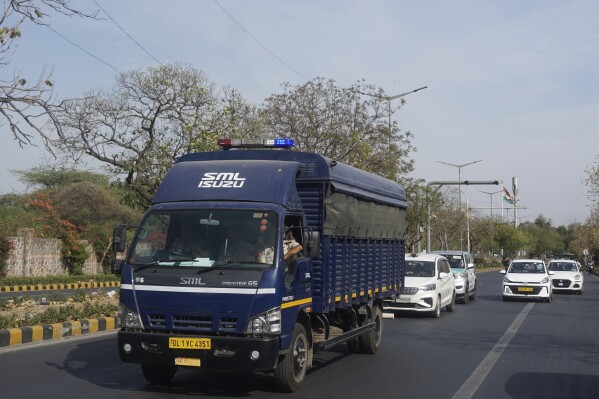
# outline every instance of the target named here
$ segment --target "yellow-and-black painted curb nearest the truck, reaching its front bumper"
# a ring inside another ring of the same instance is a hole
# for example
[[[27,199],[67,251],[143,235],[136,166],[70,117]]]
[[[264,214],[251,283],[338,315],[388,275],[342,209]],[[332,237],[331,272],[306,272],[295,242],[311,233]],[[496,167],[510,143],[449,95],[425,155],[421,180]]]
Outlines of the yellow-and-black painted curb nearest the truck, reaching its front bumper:
[[[0,349],[7,346],[49,341],[77,335],[93,334],[117,328],[115,317],[101,317],[41,326],[9,328],[0,330]]]

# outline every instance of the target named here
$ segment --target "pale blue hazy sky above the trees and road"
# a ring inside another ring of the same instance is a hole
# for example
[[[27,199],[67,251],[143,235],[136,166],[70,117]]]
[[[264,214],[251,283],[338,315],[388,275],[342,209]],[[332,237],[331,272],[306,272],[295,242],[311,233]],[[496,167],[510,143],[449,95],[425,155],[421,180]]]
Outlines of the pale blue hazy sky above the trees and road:
[[[498,180],[510,192],[517,177],[519,222],[543,215],[559,226],[589,217],[585,179],[599,162],[597,1],[72,0],[71,5],[99,10],[102,19],[47,18],[60,35],[23,25],[13,63],[2,73],[17,71],[34,80],[46,67],[55,96],[70,98],[110,90],[117,71],[181,62],[256,105],[280,93],[284,82],[299,85],[317,77],[339,87],[364,80],[389,96],[427,86],[406,95],[393,115],[414,135],[413,177]],[[20,148],[5,125],[0,137],[0,194],[30,190],[10,171],[53,159],[39,141]],[[462,186],[461,198],[486,215],[492,201],[498,215],[501,194],[487,193],[501,189]]]

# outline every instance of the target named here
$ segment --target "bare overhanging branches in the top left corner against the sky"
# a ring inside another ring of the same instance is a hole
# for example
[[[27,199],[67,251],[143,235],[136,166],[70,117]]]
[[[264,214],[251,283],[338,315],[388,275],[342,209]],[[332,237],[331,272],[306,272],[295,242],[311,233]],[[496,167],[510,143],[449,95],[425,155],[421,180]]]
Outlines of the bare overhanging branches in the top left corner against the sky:
[[[37,134],[50,149],[52,134],[61,134],[54,113],[51,71],[43,68],[31,82],[16,71],[8,71],[21,26],[26,22],[49,25],[44,17],[56,13],[96,17],[96,13],[72,8],[69,0],[6,0],[0,14],[0,125],[8,125],[21,146],[30,144]]]

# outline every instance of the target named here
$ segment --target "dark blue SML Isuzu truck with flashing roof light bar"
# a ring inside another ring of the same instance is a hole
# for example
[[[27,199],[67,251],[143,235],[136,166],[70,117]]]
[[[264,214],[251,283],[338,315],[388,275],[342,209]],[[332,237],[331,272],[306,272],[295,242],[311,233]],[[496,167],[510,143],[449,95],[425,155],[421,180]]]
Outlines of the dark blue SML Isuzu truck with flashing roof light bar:
[[[404,188],[287,139],[219,144],[175,162],[132,239],[115,228],[121,360],[155,384],[243,369],[293,392],[317,351],[376,353],[403,285]]]

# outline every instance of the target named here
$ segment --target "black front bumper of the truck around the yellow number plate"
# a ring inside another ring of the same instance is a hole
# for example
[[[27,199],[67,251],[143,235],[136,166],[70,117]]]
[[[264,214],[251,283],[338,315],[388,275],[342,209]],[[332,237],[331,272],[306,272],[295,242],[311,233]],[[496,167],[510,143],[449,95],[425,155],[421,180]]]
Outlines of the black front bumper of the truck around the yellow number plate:
[[[279,358],[279,338],[214,337],[210,349],[169,348],[169,337],[200,338],[192,335],[118,332],[121,360],[128,363],[175,365],[175,359],[199,359],[202,368],[260,370],[275,368]]]

